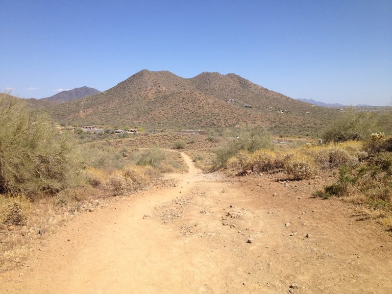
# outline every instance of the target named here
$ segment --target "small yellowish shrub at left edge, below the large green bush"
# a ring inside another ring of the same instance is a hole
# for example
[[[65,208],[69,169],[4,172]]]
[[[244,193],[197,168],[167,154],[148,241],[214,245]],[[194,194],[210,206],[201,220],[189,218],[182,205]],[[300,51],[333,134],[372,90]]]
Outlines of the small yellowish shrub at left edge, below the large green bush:
[[[30,211],[30,200],[24,194],[0,194],[0,225],[25,225]]]

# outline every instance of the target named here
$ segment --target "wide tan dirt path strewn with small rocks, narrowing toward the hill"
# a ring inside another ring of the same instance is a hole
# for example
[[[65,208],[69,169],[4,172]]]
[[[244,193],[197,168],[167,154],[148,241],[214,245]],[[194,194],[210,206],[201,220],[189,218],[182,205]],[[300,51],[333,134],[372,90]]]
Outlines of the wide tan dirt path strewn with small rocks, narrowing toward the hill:
[[[311,198],[315,183],[202,174],[183,156],[176,187],[80,216],[2,273],[0,293],[391,291],[390,234]]]

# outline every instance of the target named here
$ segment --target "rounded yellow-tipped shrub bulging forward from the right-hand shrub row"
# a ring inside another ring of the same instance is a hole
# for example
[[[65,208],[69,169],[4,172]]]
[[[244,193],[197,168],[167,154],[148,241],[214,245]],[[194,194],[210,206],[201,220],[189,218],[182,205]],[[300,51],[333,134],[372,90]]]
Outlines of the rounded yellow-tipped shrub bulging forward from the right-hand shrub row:
[[[286,172],[293,176],[294,179],[309,179],[316,175],[315,164],[309,156],[294,153],[288,155],[284,159],[284,167]]]

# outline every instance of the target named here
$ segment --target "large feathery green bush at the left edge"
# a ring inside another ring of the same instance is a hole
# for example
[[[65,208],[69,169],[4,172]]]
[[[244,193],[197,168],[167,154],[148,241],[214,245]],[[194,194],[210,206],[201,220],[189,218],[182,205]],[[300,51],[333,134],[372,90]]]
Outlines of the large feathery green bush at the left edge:
[[[56,193],[76,180],[75,140],[17,98],[0,95],[0,193]]]

